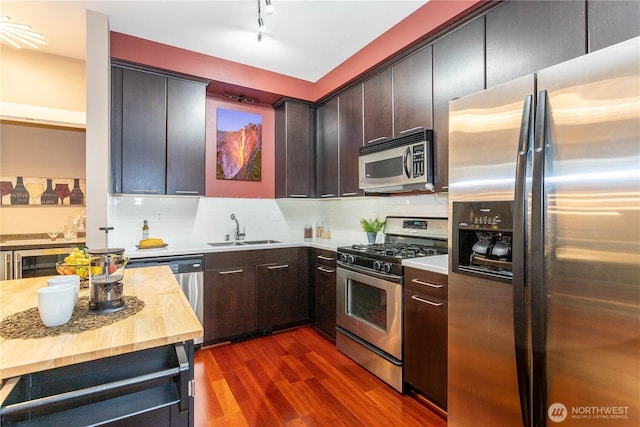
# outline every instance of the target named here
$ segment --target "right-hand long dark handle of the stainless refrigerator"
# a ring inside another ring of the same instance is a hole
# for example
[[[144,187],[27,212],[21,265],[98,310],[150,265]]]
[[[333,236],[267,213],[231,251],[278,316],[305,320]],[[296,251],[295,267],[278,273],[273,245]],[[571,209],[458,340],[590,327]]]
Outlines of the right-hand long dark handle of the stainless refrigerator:
[[[551,149],[549,137],[549,98],[547,91],[538,92],[535,123],[535,148],[531,188],[531,345],[532,345],[532,413],[534,425],[545,425],[547,416],[546,384],[546,295],[544,255],[545,162]]]

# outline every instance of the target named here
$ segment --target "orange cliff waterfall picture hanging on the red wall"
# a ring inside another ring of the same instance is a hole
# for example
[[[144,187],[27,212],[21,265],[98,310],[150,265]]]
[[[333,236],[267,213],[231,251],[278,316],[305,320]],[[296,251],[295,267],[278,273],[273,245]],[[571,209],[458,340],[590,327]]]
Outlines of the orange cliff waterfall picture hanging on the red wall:
[[[216,179],[262,180],[262,115],[218,108]]]

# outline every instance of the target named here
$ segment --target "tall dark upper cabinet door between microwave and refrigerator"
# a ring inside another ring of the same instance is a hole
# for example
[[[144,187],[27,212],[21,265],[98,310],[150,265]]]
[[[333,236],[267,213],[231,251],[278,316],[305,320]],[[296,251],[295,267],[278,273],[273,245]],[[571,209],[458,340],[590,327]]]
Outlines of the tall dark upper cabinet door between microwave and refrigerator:
[[[484,89],[484,17],[433,43],[435,190],[449,188],[449,101]]]

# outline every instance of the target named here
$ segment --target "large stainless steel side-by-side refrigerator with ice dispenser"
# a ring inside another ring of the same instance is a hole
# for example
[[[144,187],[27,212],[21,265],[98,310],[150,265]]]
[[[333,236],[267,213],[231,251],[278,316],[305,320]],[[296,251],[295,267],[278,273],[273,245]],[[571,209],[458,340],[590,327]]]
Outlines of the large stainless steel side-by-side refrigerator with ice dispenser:
[[[639,426],[640,38],[449,120],[449,426]]]

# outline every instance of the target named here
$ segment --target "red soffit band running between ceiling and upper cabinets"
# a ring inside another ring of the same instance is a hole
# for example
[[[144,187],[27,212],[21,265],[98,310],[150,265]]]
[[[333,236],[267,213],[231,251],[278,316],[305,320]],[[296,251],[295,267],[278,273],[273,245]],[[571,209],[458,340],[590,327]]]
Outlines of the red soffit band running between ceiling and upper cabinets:
[[[110,50],[112,58],[315,102],[485,1],[431,0],[315,83],[115,32]]]

